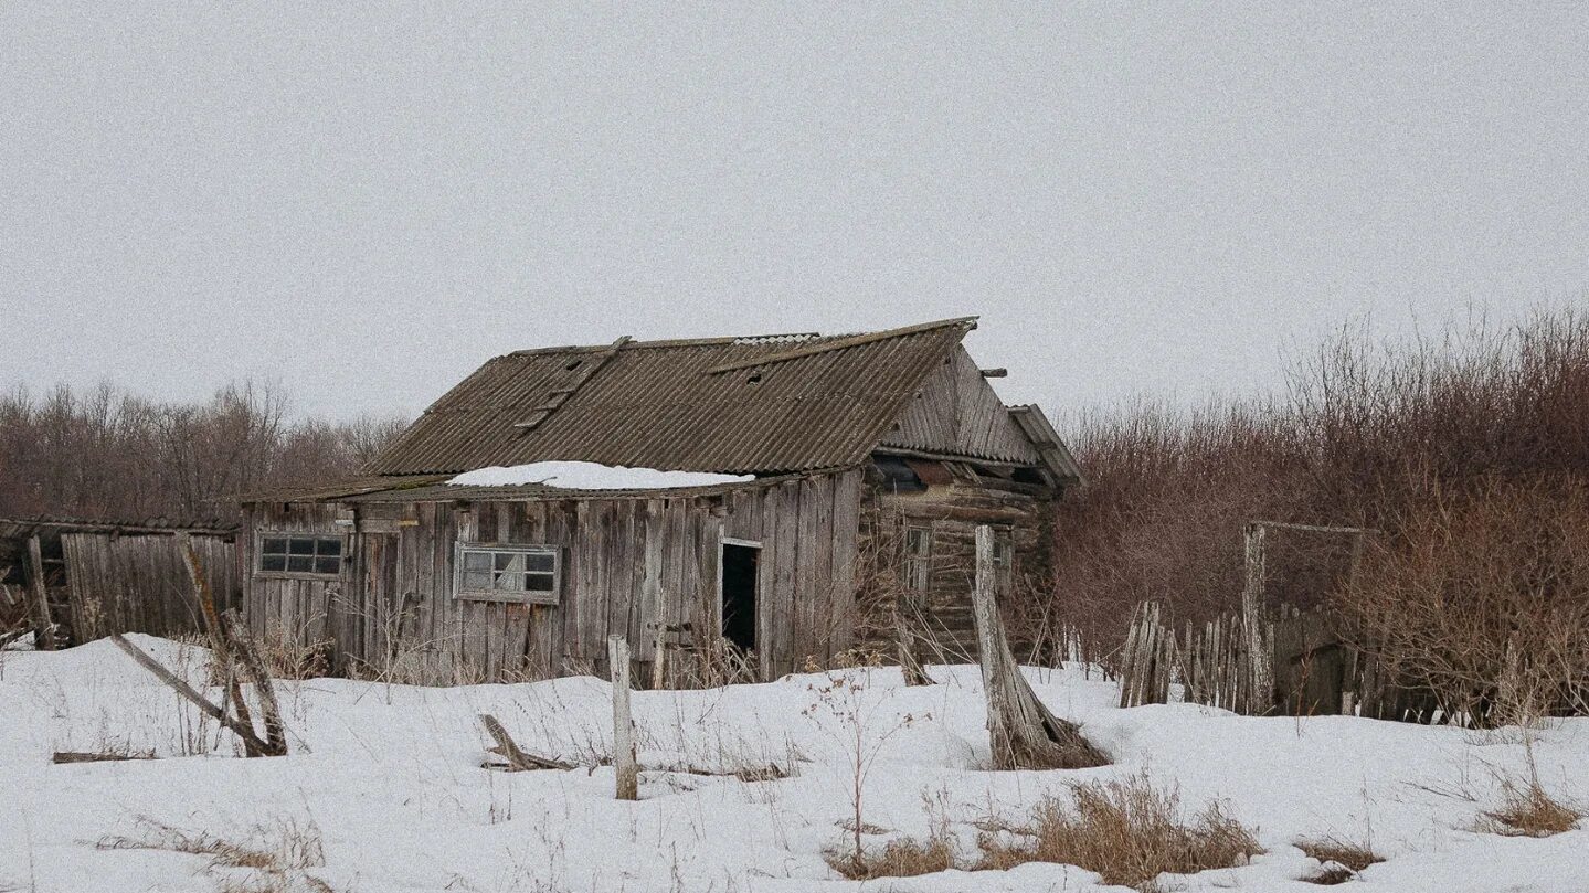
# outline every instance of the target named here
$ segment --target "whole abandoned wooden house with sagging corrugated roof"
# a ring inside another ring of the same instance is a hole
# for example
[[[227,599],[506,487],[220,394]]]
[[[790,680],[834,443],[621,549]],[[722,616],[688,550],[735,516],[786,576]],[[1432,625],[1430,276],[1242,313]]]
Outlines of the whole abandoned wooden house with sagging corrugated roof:
[[[761,678],[826,666],[891,639],[907,599],[969,653],[974,526],[996,528],[1006,585],[1041,577],[1052,502],[1079,480],[1042,413],[993,392],[1003,370],[961,346],[972,329],[494,358],[365,478],[243,497],[251,628],[431,683],[602,671],[621,634],[637,678],[674,685],[713,653]],[[532,462],[742,480],[450,483]]]

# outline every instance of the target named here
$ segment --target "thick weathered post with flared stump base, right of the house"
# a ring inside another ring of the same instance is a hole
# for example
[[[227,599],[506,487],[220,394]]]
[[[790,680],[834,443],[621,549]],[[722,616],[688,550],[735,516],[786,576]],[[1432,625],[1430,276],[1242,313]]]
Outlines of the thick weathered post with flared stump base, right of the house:
[[[982,651],[993,767],[1085,769],[1106,764],[1109,760],[1082,737],[1081,728],[1050,713],[1026,677],[1020,675],[993,601],[993,531],[987,524],[977,526],[977,578],[971,607]]]

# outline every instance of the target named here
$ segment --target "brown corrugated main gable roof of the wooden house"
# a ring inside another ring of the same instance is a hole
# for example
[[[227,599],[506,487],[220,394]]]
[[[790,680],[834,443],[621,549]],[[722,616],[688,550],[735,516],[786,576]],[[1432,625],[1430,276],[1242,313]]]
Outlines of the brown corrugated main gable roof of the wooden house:
[[[432,404],[367,472],[551,459],[728,474],[850,466],[974,327],[961,318],[833,338],[631,342],[588,378],[583,365],[613,345],[512,353]]]

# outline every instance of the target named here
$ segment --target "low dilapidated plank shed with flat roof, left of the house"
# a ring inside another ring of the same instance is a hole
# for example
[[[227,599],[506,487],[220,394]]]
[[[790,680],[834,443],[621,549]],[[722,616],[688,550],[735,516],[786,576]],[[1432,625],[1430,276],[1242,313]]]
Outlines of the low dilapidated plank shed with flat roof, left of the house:
[[[41,648],[111,632],[202,632],[181,535],[203,566],[216,609],[237,607],[234,524],[0,520],[0,632],[25,624]]]

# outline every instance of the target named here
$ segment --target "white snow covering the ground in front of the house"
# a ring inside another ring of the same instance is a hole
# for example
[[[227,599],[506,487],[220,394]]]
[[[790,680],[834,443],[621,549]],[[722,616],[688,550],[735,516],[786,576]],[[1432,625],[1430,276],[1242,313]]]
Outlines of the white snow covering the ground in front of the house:
[[[167,666],[202,678],[199,648],[135,636]],[[850,882],[823,860],[850,812],[850,726],[820,688],[826,675],[713,691],[636,693],[647,766],[793,774],[742,782],[648,771],[639,802],[613,799],[612,769],[493,772],[480,767],[478,713],[528,748],[604,755],[610,688],[580,677],[526,685],[413,688],[350,680],[281,683],[294,753],[234,756],[108,642],[62,653],[0,655],[0,890],[253,890],[249,871],[162,849],[103,849],[159,823],[267,844],[315,837],[323,860],[302,890],[404,891],[995,891],[1096,890],[1057,864]],[[1524,771],[1516,729],[1467,733],[1355,718],[1243,718],[1173,704],[1120,710],[1115,688],[1074,669],[1033,669],[1038,694],[1085,725],[1114,766],[988,772],[974,667],[933,667],[941,685],[906,688],[895,669],[847,671],[863,686],[868,742],[882,742],[864,787],[869,845],[928,833],[947,815],[961,852],[977,823],[1019,821],[1046,793],[1087,777],[1147,772],[1197,809],[1222,799],[1268,849],[1252,864],[1165,877],[1165,890],[1320,890],[1298,837],[1371,837],[1387,861],[1347,890],[1589,890],[1589,829],[1546,839],[1473,828],[1498,777]],[[906,720],[909,715],[909,720]],[[1543,785],[1589,798],[1589,720],[1529,740]],[[154,752],[162,760],[54,766],[56,750]],[[230,887],[229,887],[230,885]]]

